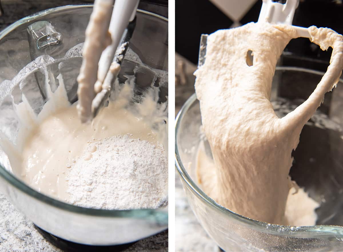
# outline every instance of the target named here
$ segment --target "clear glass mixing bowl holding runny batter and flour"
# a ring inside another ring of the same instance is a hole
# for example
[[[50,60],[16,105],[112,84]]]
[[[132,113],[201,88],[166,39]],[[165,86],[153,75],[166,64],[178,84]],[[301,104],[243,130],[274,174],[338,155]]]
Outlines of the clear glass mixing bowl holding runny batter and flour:
[[[0,140],[16,143],[19,118],[15,105],[25,96],[37,115],[59,85],[61,73],[68,99],[77,100],[82,44],[92,5],[70,5],[39,12],[0,33]],[[159,102],[168,92],[168,20],[138,10],[130,50],[119,81],[135,75],[135,96],[150,83],[159,86]],[[37,59],[38,57],[38,59]],[[133,71],[135,69],[135,71]],[[48,87],[45,80],[48,80]],[[8,146],[12,146],[9,144]],[[10,151],[10,150],[7,150]],[[168,228],[167,206],[158,209],[99,210],[73,206],[33,190],[11,172],[0,149],[0,189],[28,219],[43,230],[72,242],[116,245],[137,241]]]

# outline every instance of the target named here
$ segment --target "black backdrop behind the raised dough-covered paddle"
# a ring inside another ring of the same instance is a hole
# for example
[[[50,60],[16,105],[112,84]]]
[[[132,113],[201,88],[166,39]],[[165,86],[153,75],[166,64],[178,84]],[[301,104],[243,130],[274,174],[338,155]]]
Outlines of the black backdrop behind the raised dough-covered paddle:
[[[229,1],[229,0],[228,0]],[[223,14],[209,0],[176,0],[175,1],[175,48],[177,53],[194,64],[198,62],[200,35],[210,34],[219,29],[229,28],[233,20]],[[257,22],[262,0],[257,0],[251,9],[239,21],[241,24]],[[343,33],[343,4],[339,0],[300,0],[295,12],[293,25],[309,27],[329,27]],[[322,51],[319,46],[307,38],[293,39],[285,51],[287,57],[301,57],[319,60],[323,64],[305,66],[317,70],[326,70],[331,51]],[[303,64],[303,63],[301,63]],[[285,62],[287,65],[287,59]],[[292,65],[292,64],[291,64]],[[321,66],[323,65],[323,66]]]

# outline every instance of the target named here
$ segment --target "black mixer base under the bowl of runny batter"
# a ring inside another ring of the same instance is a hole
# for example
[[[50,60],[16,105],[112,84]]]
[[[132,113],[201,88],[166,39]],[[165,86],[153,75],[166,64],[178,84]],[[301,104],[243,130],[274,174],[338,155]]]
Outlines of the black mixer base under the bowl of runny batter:
[[[75,243],[71,241],[64,240],[62,238],[56,237],[53,234],[50,234],[43,229],[34,225],[37,231],[42,234],[42,236],[50,242],[55,247],[63,250],[64,252],[119,252],[129,248],[135,242],[121,244],[121,245],[114,245],[114,246],[93,246],[93,245],[85,245],[80,243]]]

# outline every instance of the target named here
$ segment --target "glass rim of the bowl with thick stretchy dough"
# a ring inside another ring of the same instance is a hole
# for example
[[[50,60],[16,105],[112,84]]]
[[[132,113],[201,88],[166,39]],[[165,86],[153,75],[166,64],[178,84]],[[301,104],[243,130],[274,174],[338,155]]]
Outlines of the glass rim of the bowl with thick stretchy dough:
[[[288,71],[300,71],[300,72],[307,72],[307,73],[313,73],[316,75],[324,75],[324,72],[307,69],[307,68],[301,68],[301,67],[283,67],[283,66],[277,66],[275,70],[288,70]],[[343,79],[339,79],[339,82],[343,84]],[[250,226],[253,229],[256,229],[261,232],[268,232],[271,234],[275,234],[278,236],[301,236],[301,233],[303,232],[311,232],[314,236],[317,234],[318,236],[322,235],[321,232],[330,233],[334,236],[340,236],[343,237],[343,227],[341,226],[334,226],[334,225],[315,225],[315,226],[285,226],[285,225],[277,225],[277,224],[269,224],[266,222],[254,220],[247,218],[245,216],[239,215],[229,209],[227,209],[224,206],[221,206],[217,202],[215,202],[212,198],[210,198],[208,195],[206,195],[200,187],[191,179],[189,176],[184,164],[181,161],[181,157],[179,154],[179,148],[177,144],[177,138],[179,133],[179,128],[181,125],[182,118],[184,115],[188,112],[189,108],[194,104],[194,102],[197,101],[196,93],[193,93],[185,102],[185,104],[181,107],[180,111],[178,112],[176,119],[175,119],[175,166],[176,170],[179,173],[179,176],[182,180],[182,182],[185,182],[187,187],[190,189],[190,191],[198,197],[203,203],[210,206],[216,211],[220,211],[224,213],[226,216],[230,218],[234,218],[238,220],[239,222]],[[185,189],[186,190],[186,189]],[[281,230],[281,231],[280,231]],[[321,233],[321,234],[320,234]]]

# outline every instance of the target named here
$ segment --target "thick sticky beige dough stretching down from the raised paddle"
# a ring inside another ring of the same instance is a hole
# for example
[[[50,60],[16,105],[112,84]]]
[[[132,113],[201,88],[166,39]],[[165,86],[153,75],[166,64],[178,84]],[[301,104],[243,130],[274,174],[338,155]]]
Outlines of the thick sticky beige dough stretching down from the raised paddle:
[[[219,30],[209,35],[205,63],[194,73],[215,163],[214,170],[199,174],[206,180],[204,191],[240,215],[272,224],[287,224],[292,150],[343,68],[342,35],[329,28],[308,30],[321,49],[333,48],[330,66],[309,98],[283,118],[276,116],[270,94],[276,61],[297,37],[292,26],[248,23]],[[248,50],[252,66],[247,65]]]

